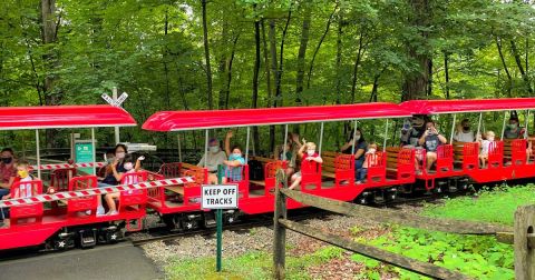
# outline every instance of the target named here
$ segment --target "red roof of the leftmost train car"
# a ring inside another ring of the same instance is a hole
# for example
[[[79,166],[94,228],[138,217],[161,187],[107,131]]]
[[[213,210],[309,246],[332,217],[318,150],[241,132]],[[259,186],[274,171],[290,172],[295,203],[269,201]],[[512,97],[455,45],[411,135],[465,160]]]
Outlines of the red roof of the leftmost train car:
[[[123,108],[113,106],[1,107],[0,130],[136,126]]]

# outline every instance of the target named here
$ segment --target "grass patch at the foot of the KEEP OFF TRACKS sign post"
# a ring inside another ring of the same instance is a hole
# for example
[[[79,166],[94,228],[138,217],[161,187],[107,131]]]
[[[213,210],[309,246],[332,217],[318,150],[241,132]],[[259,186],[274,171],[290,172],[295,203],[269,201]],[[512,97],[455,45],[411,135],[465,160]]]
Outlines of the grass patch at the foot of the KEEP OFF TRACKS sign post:
[[[286,253],[286,279],[311,279],[307,268],[340,258],[343,250],[327,247],[300,258]],[[215,257],[176,260],[166,267],[168,279],[271,279],[273,257],[268,252],[249,252],[223,259],[223,271],[215,272]]]

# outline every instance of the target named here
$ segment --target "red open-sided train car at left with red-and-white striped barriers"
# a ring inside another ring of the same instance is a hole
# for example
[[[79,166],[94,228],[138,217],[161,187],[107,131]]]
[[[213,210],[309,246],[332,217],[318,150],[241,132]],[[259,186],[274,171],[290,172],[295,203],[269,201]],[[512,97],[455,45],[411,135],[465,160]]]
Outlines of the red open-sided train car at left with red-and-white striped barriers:
[[[59,107],[13,107],[0,108],[1,130],[35,130],[37,143],[37,178],[31,182],[16,182],[10,188],[12,199],[17,199],[21,188],[29,186],[31,196],[46,190],[80,191],[96,188],[97,177],[95,157],[93,174],[77,176],[70,164],[55,169],[40,164],[39,130],[77,128],[90,129],[93,148],[95,149],[95,128],[136,126],[132,116],[118,107],[111,106],[59,106]],[[95,151],[93,151],[95,154]],[[50,180],[41,180],[43,170],[50,170]],[[70,172],[70,173],[69,173]],[[75,244],[93,247],[97,242],[114,242],[120,238],[121,228],[135,230],[132,221],[140,221],[145,217],[142,194],[121,198],[119,214],[96,216],[97,197],[82,197],[55,201],[26,203],[10,207],[10,217],[0,227],[0,250],[46,246],[49,249],[66,249]]]

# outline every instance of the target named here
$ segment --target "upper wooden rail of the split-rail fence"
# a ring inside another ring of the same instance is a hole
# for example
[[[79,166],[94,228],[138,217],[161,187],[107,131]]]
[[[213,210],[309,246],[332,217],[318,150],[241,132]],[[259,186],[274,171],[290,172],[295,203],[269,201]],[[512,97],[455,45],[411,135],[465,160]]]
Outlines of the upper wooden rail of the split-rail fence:
[[[496,232],[513,232],[513,228],[507,226],[402,213],[396,210],[377,209],[340,200],[321,198],[290,189],[281,189],[281,192],[289,198],[310,207],[321,208],[335,213],[366,218],[378,222],[390,222],[418,229],[461,234],[496,234]]]

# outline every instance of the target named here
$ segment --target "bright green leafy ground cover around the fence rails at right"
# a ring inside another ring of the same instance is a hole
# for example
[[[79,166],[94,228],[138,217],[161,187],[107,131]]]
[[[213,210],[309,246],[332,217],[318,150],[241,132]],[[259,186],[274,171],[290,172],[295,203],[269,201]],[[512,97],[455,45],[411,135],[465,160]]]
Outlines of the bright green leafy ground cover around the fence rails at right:
[[[535,203],[535,187],[484,189],[475,197],[449,199],[441,206],[426,206],[424,214],[437,218],[453,218],[514,223],[514,212],[518,206]],[[360,229],[354,228],[356,233]],[[498,243],[494,237],[461,236],[419,229],[395,227],[389,234],[374,240],[359,240],[385,250],[403,254],[420,261],[460,271],[477,279],[514,279],[514,252],[509,244]],[[379,279],[379,262],[354,254],[354,261],[367,266],[363,276]],[[387,267],[381,272],[391,271],[401,279],[419,279],[416,273]]]

